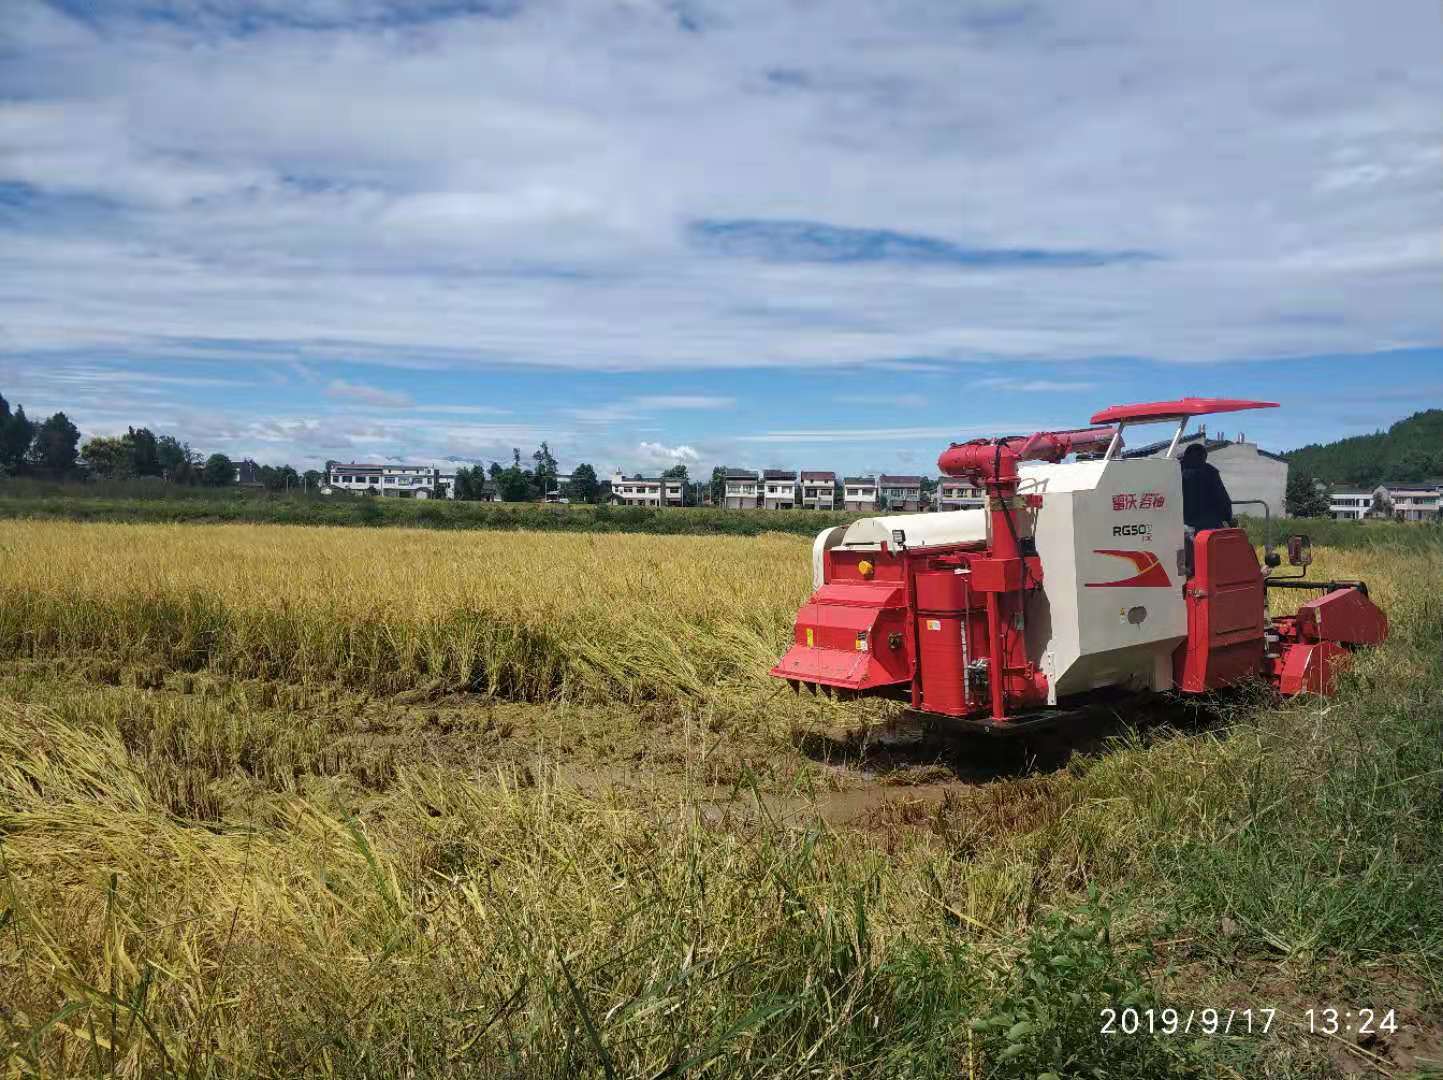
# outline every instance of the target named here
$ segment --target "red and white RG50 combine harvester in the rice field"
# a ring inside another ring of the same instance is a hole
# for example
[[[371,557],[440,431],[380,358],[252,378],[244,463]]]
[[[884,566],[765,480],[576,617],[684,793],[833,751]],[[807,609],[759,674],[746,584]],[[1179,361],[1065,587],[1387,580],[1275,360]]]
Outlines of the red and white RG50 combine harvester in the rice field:
[[[954,443],[938,466],[983,488],[986,507],[820,533],[815,592],[772,674],[988,731],[1115,690],[1263,679],[1289,696],[1330,692],[1351,650],[1388,634],[1368,588],[1274,576],[1281,559],[1268,547],[1260,563],[1241,528],[1183,526],[1173,455],[1188,420],[1264,407],[1186,397],[1104,409],[1088,429]],[[1176,423],[1166,456],[1123,458],[1123,429],[1156,422]],[[1306,537],[1287,550],[1312,562]],[[1320,595],[1268,619],[1270,588]]]

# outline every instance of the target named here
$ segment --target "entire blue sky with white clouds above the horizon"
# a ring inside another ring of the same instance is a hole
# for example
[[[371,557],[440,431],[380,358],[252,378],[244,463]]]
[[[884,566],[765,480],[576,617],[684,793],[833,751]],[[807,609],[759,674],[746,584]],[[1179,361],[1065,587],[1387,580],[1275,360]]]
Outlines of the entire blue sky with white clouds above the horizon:
[[[1443,406],[1436,3],[4,0],[0,394],[261,462],[931,471]]]

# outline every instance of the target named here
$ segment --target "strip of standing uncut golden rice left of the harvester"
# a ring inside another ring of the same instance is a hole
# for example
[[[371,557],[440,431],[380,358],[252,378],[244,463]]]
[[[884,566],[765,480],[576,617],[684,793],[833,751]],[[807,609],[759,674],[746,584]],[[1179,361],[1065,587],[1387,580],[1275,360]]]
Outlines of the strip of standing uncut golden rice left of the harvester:
[[[765,677],[810,585],[789,536],[0,524],[0,654],[517,699]]]

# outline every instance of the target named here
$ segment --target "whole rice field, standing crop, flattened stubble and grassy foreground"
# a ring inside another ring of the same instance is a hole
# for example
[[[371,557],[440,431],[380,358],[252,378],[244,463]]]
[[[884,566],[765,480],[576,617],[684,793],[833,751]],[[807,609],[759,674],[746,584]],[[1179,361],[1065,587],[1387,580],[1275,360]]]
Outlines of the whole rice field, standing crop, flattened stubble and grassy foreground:
[[[0,523],[6,1073],[1443,1058],[1443,546],[1317,550],[1394,625],[1339,697],[1052,757],[778,693],[808,549]],[[1101,1035],[1121,1001],[1290,1019]],[[1325,1001],[1401,1032],[1309,1035]]]

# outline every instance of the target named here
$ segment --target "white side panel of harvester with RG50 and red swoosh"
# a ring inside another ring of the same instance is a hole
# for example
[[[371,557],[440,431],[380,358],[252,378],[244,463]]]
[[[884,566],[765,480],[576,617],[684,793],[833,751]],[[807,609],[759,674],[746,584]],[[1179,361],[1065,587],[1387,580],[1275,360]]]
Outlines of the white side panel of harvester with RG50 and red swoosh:
[[[1027,656],[1048,676],[1049,703],[1101,686],[1169,689],[1188,634],[1177,462],[1038,462],[1019,474],[1023,495],[1042,495],[1043,595],[1027,605]]]

